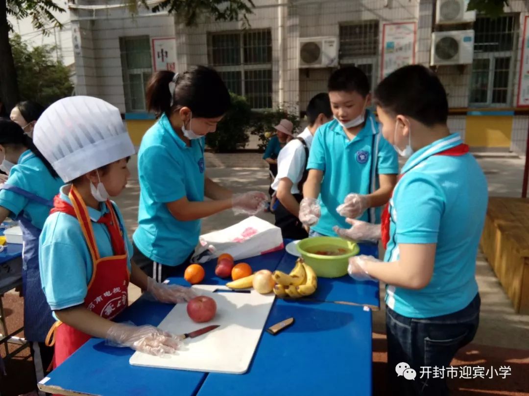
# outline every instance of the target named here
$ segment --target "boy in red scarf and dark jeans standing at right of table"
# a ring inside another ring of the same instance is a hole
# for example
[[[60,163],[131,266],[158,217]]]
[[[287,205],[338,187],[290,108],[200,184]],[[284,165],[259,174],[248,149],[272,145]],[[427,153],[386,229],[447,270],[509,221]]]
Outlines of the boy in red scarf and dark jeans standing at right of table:
[[[407,157],[382,214],[382,226],[349,220],[349,239],[381,239],[384,261],[349,260],[356,280],[386,287],[391,388],[402,395],[448,395],[443,376],[408,381],[395,375],[405,362],[448,367],[472,341],[479,323],[476,256],[485,222],[487,181],[458,134],[446,126],[448,101],[435,74],[421,65],[391,73],[375,91],[384,137]]]

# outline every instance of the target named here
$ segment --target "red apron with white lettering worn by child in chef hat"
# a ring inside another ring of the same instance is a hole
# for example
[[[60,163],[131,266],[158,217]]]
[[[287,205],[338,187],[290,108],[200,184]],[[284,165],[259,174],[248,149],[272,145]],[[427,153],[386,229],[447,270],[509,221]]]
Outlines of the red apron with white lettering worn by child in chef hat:
[[[88,291],[84,305],[92,312],[105,319],[112,319],[121,313],[128,304],[127,288],[129,286],[130,273],[127,267],[127,253],[120,223],[114,212],[110,201],[106,202],[109,213],[106,213],[98,221],[104,223],[111,235],[114,256],[99,256],[92,220],[88,215],[86,205],[79,196],[77,189],[72,186],[68,194],[71,205],[55,197],[53,212],[63,212],[74,216],[79,220],[81,230],[85,236],[90,256],[94,264],[92,279],[88,284]],[[53,341],[50,339],[53,336]],[[55,344],[55,355],[53,357],[53,368],[65,361],[81,345],[89,340],[90,336],[62,322],[56,322],[48,333],[47,343]]]

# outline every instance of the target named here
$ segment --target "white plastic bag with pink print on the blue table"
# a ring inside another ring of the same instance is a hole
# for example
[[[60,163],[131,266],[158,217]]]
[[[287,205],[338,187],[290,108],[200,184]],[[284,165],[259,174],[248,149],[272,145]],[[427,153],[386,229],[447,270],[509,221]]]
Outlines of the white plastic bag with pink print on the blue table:
[[[222,253],[229,253],[235,260],[242,260],[281,250],[283,247],[279,227],[251,216],[224,230],[201,235],[191,260],[204,263]]]

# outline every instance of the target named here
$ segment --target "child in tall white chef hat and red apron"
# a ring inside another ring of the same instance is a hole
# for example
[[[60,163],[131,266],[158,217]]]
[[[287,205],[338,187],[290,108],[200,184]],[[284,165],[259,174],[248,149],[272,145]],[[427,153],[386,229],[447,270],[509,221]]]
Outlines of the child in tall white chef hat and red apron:
[[[97,98],[61,99],[44,111],[33,140],[68,183],[40,237],[42,287],[58,319],[47,340],[55,344],[54,367],[90,336],[150,354],[175,353],[175,336],[112,322],[127,306],[129,282],[166,303],[193,297],[188,288],[158,284],[130,260],[123,218],[110,201],[125,188],[134,154],[120,111]]]

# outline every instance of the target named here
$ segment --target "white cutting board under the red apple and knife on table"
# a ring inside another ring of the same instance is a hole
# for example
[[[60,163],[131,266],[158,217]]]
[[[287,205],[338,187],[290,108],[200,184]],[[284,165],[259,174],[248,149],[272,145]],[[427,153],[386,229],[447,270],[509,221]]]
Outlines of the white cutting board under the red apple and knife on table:
[[[194,285],[198,294],[215,299],[217,313],[207,323],[195,323],[187,315],[187,304],[176,304],[162,320],[159,328],[173,334],[184,334],[209,325],[220,327],[195,338],[184,340],[176,355],[162,357],[135,352],[130,364],[191,371],[243,374],[248,370],[253,353],[275,295],[248,293],[213,293],[225,286]]]

